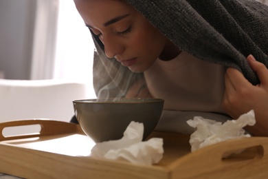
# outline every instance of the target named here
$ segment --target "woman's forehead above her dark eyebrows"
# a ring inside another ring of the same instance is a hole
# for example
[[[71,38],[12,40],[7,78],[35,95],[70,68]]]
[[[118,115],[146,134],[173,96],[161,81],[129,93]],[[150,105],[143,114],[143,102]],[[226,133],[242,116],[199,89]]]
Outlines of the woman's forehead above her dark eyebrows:
[[[123,14],[136,11],[120,0],[74,0],[76,8],[87,25],[94,27]]]

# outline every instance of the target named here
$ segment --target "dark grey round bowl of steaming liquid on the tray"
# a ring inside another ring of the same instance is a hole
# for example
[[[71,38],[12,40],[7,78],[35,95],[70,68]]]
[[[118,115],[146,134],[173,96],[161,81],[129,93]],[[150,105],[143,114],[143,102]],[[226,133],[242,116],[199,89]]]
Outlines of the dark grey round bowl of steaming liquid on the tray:
[[[122,138],[131,121],[144,124],[144,139],[155,129],[164,100],[104,98],[76,100],[74,112],[85,134],[96,143]]]

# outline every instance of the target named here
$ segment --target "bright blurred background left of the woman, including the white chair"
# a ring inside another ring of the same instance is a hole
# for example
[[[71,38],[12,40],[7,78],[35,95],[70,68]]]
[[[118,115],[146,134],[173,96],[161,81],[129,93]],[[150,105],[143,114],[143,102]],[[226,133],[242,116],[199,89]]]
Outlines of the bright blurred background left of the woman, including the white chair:
[[[96,98],[93,52],[73,0],[0,0],[0,123],[71,120],[73,100]]]

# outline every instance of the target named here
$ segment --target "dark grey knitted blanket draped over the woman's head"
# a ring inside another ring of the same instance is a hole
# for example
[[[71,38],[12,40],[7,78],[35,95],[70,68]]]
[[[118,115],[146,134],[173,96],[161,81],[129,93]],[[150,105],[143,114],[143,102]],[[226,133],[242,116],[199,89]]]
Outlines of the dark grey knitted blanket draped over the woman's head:
[[[263,3],[255,0],[126,1],[170,41],[199,59],[236,67],[253,84],[259,81],[246,57],[253,54],[268,67],[268,6]],[[113,59],[105,60],[102,43],[93,37],[98,50],[93,70],[96,91],[100,97],[108,95],[100,92],[104,88],[110,90],[110,96],[124,96],[126,87],[142,78],[142,74],[132,74]]]

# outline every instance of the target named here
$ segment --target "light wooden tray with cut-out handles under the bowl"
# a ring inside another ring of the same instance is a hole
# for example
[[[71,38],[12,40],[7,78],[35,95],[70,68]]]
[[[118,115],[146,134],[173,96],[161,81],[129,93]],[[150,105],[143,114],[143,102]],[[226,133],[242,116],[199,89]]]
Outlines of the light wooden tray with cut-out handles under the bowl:
[[[164,138],[164,158],[153,166],[100,160],[90,155],[93,141],[79,125],[55,120],[18,120],[5,127],[40,125],[38,134],[0,134],[0,172],[22,178],[265,178],[268,138],[228,140],[190,152],[189,136],[154,132]],[[244,149],[223,159],[223,154]]]

